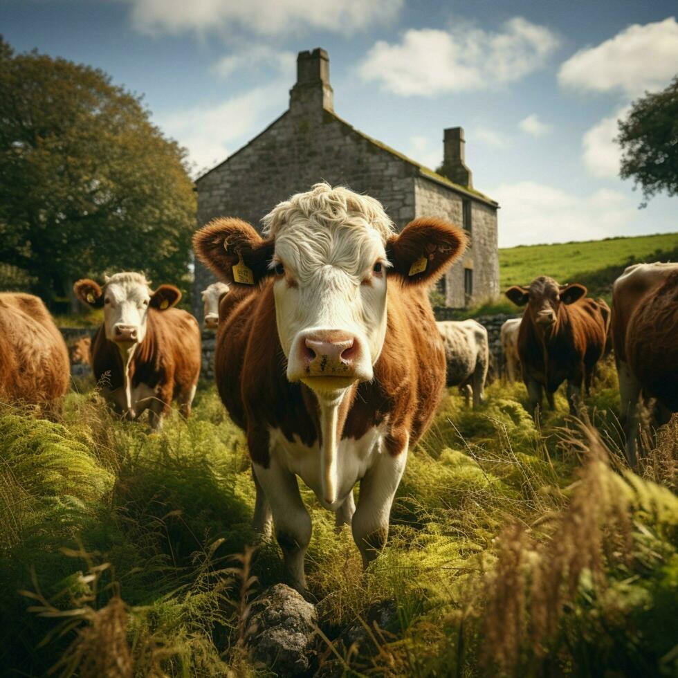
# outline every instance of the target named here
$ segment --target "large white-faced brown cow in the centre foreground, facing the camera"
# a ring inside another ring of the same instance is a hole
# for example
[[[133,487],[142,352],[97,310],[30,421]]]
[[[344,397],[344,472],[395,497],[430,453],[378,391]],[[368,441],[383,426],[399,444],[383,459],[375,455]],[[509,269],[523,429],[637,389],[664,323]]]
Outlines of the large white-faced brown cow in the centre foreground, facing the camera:
[[[351,525],[367,567],[387,540],[407,450],[441,398],[445,355],[428,290],[466,236],[428,218],[396,235],[376,199],[327,183],[263,221],[264,239],[222,218],[193,242],[217,277],[257,288],[237,302],[223,297],[215,372],[246,432],[255,528],[266,531],[270,506],[288,579],[305,592],[311,519],[297,476],[338,528]]]

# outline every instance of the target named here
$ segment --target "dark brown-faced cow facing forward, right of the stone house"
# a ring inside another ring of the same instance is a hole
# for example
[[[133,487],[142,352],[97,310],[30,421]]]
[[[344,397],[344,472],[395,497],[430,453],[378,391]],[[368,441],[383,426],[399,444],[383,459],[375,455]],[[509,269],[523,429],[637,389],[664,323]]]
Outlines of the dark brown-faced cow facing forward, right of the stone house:
[[[514,304],[527,306],[518,331],[518,356],[528,410],[535,418],[544,388],[553,409],[553,394],[567,379],[571,414],[578,411],[582,384],[589,392],[596,363],[605,351],[610,309],[586,294],[583,285],[559,285],[546,275],[535,278],[529,287],[506,290]]]

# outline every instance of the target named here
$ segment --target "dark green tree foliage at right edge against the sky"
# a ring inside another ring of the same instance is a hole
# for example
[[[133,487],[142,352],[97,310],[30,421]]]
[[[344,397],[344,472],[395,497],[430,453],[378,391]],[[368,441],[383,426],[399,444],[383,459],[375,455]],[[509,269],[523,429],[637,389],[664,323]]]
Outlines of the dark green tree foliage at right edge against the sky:
[[[646,92],[619,120],[622,178],[643,187],[642,207],[656,193],[678,193],[678,75],[658,93]]]

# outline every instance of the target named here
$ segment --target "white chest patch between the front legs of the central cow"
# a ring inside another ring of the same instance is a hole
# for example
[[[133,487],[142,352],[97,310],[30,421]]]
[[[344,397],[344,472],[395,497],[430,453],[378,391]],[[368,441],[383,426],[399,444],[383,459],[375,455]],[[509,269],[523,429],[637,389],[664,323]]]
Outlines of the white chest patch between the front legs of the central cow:
[[[372,468],[379,455],[387,454],[383,445],[385,424],[370,428],[357,440],[342,438],[337,450],[337,499],[333,504],[329,504],[322,497],[318,441],[309,447],[297,436],[294,437],[294,441],[288,441],[278,428],[272,428],[269,432],[271,456],[275,457],[281,466],[298,475],[315,492],[320,504],[331,511],[341,506],[356,483]]]

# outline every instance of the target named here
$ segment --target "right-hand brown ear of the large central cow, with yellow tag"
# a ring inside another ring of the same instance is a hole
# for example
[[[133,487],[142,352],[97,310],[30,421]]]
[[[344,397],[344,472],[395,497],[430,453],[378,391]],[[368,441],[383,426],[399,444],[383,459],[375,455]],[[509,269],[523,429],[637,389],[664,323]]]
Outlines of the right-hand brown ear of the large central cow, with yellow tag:
[[[406,284],[432,285],[466,250],[464,231],[442,219],[421,217],[386,244],[386,256]]]

